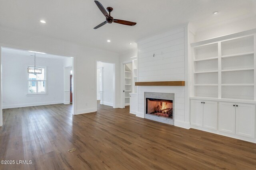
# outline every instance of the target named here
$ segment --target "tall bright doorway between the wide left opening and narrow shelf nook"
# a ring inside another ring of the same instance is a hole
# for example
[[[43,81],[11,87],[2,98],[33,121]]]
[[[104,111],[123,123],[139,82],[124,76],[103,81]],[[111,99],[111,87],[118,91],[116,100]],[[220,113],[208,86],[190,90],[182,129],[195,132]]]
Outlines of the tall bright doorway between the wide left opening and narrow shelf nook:
[[[97,94],[100,104],[114,107],[115,103],[115,64],[96,61]]]

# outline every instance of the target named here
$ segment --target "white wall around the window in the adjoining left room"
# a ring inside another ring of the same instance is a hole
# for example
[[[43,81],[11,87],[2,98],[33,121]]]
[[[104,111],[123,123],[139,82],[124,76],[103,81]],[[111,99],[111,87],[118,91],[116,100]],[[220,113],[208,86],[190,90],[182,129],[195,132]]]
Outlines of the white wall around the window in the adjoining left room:
[[[8,53],[2,56],[3,108],[63,103],[65,59],[36,57],[37,66],[46,66],[47,95],[44,96],[27,95],[27,67],[33,62],[34,57],[31,56]]]

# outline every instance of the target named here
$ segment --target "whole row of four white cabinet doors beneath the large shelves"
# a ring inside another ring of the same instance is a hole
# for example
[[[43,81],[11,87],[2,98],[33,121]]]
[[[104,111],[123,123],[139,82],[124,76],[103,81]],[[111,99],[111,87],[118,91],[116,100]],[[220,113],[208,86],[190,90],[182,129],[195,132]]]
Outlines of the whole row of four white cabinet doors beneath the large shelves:
[[[190,124],[244,137],[255,137],[255,105],[190,100]]]

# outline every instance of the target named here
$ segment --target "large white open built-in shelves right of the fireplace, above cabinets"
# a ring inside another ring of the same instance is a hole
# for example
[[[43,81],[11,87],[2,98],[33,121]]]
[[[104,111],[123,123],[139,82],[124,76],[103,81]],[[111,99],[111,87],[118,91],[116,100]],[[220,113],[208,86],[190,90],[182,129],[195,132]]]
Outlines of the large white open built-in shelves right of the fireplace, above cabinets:
[[[192,96],[256,100],[255,37],[246,35],[194,46]]]

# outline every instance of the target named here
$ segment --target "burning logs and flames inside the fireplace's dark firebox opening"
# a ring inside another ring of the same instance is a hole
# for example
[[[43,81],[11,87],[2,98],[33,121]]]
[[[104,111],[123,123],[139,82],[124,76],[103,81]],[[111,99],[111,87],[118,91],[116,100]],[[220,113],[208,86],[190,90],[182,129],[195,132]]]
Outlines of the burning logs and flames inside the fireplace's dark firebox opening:
[[[172,100],[146,98],[146,114],[172,119]]]

